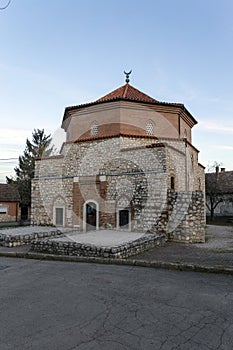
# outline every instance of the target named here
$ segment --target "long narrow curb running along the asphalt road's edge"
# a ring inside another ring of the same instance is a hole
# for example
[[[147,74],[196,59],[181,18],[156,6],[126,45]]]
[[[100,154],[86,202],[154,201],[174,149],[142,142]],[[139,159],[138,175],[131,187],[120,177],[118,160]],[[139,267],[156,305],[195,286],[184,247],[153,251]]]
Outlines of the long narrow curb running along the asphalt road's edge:
[[[24,259],[36,259],[36,260],[48,260],[48,261],[67,261],[67,262],[81,262],[81,263],[95,263],[106,265],[125,265],[125,266],[139,266],[160,268],[176,271],[192,271],[192,272],[208,272],[208,273],[221,273],[233,275],[233,267],[226,266],[208,266],[199,264],[188,263],[176,263],[176,262],[164,262],[164,261],[148,261],[148,260],[135,260],[135,259],[111,259],[111,258],[97,258],[97,257],[80,257],[80,256],[67,256],[67,255],[54,255],[54,254],[41,254],[34,252],[0,252],[0,257],[9,258],[24,258]]]

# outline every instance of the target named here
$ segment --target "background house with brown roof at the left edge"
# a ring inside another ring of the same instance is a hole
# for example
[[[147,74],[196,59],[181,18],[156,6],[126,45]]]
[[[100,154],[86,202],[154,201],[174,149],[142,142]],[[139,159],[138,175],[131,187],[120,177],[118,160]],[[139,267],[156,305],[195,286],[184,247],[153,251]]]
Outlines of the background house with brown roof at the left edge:
[[[0,224],[20,221],[20,197],[14,184],[0,184]]]

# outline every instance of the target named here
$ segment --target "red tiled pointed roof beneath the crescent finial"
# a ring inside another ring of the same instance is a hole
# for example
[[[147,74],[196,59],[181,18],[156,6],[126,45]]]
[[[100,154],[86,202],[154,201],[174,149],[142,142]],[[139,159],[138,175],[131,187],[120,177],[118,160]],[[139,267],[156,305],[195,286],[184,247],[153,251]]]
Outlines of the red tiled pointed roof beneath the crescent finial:
[[[154,98],[144,94],[130,84],[125,84],[109,94],[99,98],[96,102],[109,101],[114,99],[136,100],[145,102],[157,102]]]

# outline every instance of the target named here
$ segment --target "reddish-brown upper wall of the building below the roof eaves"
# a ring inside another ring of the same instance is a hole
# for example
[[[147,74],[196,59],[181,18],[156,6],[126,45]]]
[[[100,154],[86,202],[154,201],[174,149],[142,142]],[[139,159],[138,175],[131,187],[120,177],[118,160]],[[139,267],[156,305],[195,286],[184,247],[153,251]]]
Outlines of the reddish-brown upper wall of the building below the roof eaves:
[[[186,137],[191,142],[191,127],[182,118],[179,107],[146,105],[128,101],[108,102],[74,111],[63,122],[67,141],[91,137],[91,128],[98,124],[98,135],[119,133],[145,135],[148,122],[154,135],[170,138]]]

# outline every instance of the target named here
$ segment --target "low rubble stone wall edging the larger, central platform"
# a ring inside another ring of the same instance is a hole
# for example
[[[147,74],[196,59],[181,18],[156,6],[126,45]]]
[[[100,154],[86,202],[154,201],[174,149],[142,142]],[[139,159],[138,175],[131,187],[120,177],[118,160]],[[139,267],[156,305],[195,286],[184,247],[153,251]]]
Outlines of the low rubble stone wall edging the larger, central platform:
[[[91,244],[43,239],[40,241],[33,241],[31,251],[55,255],[120,259],[137,255],[156,246],[161,246],[165,241],[165,235],[146,234],[145,236],[126,244],[120,244],[113,247],[98,247]]]

